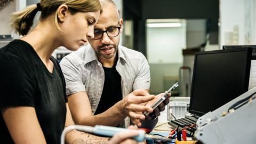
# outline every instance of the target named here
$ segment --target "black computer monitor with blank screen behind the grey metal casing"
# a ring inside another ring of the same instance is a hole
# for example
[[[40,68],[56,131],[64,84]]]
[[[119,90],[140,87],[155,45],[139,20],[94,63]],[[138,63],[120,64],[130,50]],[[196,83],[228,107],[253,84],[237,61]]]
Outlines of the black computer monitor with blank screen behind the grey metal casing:
[[[189,113],[202,116],[248,91],[251,47],[195,54]]]

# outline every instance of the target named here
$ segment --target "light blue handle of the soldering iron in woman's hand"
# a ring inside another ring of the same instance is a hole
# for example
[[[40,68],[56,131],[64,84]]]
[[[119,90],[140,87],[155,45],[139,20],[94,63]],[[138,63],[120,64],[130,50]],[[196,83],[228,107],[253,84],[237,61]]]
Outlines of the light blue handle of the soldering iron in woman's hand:
[[[111,126],[103,126],[96,125],[94,126],[93,133],[105,135],[108,137],[113,137],[116,133],[130,131],[129,129],[119,128],[119,127],[111,127]],[[145,140],[145,131],[139,130],[139,135],[137,137],[133,137],[134,140],[141,142]]]

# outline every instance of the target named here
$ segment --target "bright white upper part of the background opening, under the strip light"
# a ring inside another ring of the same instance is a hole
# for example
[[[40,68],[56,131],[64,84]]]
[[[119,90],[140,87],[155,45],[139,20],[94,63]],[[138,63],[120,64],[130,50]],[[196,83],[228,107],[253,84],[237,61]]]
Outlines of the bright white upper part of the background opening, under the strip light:
[[[186,48],[186,23],[182,27],[147,27],[147,57],[149,63],[182,63]]]

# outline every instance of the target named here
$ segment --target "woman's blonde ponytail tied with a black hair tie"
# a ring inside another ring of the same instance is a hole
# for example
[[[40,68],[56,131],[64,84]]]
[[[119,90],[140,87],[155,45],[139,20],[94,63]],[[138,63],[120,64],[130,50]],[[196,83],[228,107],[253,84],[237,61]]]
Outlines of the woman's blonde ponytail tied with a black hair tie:
[[[28,31],[33,26],[35,15],[38,11],[41,11],[40,4],[33,4],[27,6],[25,9],[14,12],[11,14],[11,26],[20,35],[24,36],[28,34]]]

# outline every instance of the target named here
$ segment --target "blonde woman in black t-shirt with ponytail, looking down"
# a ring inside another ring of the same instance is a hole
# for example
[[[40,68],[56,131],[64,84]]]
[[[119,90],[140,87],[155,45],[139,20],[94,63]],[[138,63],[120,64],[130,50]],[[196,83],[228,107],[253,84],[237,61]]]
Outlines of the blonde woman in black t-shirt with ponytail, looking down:
[[[38,25],[28,33],[38,11],[42,12]],[[1,143],[60,143],[62,130],[74,122],[61,69],[51,54],[59,46],[77,50],[87,37],[93,38],[100,13],[98,0],[41,0],[12,14],[12,27],[24,37],[0,49]],[[109,141],[70,131],[66,142]]]

